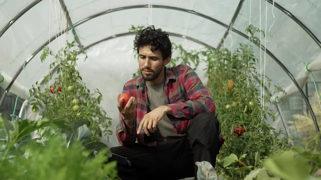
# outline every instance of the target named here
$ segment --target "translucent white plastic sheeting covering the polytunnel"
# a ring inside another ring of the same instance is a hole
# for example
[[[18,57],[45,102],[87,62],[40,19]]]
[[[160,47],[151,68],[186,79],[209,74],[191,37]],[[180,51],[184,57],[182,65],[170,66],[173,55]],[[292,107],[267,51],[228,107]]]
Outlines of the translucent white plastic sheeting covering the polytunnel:
[[[268,2],[267,2],[268,1]],[[295,16],[317,39],[321,39],[321,2],[318,0],[276,0],[274,1],[293,15],[280,10],[271,0],[245,0],[236,18],[233,28],[245,33],[249,24],[266,31],[266,38],[261,35],[262,45],[267,48],[278,61],[294,76],[300,87],[308,81],[310,72],[320,70],[320,44],[316,43],[293,20]],[[39,3],[37,3],[39,2]],[[30,4],[31,7],[20,18],[14,17]],[[147,26],[153,24],[165,31],[176,33],[182,37],[170,37],[172,42],[183,44],[188,48],[201,48],[202,45],[186,40],[191,37],[204,44],[216,47],[219,45],[228,25],[237,9],[239,1],[235,0],[65,0],[65,5],[73,27],[84,47],[128,32],[131,25]],[[145,6],[144,6],[145,5]],[[6,24],[10,28],[0,34],[0,74],[6,89],[17,71],[28,61],[18,77],[14,80],[10,92],[24,99],[29,98],[29,89],[48,73],[49,60],[40,62],[40,53],[36,53],[44,43],[57,33],[68,28],[66,14],[59,0],[10,0],[0,2],[0,29]],[[309,13],[307,13],[309,12]],[[100,13],[100,14],[99,14]],[[80,25],[79,25],[80,24]],[[1,31],[0,31],[1,32]],[[260,37],[260,34],[257,34]],[[72,41],[71,31],[57,37],[48,45],[53,52],[64,47],[65,41]],[[98,88],[103,92],[102,107],[113,118],[113,129],[117,125],[118,115],[116,95],[121,92],[123,84],[129,80],[131,73],[137,70],[134,59],[134,36],[115,37],[111,40],[91,46],[87,49],[88,60],[79,61],[78,69],[87,86]],[[239,43],[247,43],[248,39],[236,32],[230,32],[225,40],[225,47],[235,49]],[[298,91],[288,73],[272,56],[259,47],[255,47],[259,72],[272,79],[273,85],[283,86],[288,94]],[[82,59],[82,58],[80,58]],[[203,68],[197,71],[203,77]],[[203,79],[204,83],[206,79]],[[273,99],[271,100],[273,102]],[[28,106],[27,106],[28,107]],[[27,111],[26,111],[27,112]],[[21,113],[23,114],[23,113]],[[111,140],[116,143],[116,138]]]

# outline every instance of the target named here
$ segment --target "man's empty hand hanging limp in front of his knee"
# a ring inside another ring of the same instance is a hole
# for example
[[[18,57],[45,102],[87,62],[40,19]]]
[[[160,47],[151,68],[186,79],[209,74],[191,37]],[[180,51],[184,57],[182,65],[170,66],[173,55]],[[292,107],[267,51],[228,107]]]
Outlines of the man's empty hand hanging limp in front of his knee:
[[[137,134],[141,132],[142,128],[144,128],[144,132],[148,136],[149,132],[154,133],[157,130],[156,125],[158,121],[164,118],[168,109],[170,109],[169,106],[160,106],[152,110],[151,112],[145,114],[142,121],[139,123]]]

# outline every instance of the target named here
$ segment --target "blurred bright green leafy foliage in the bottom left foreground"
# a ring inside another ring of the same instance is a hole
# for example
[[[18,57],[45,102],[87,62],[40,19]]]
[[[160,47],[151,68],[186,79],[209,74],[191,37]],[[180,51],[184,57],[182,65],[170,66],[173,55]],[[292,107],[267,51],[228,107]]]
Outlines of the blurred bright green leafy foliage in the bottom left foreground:
[[[95,158],[86,146],[75,141],[66,148],[65,137],[58,133],[45,146],[30,139],[30,133],[50,126],[54,131],[72,131],[70,121],[59,117],[36,121],[1,118],[0,114],[0,179],[116,179],[116,162],[107,163],[107,149],[100,149]]]

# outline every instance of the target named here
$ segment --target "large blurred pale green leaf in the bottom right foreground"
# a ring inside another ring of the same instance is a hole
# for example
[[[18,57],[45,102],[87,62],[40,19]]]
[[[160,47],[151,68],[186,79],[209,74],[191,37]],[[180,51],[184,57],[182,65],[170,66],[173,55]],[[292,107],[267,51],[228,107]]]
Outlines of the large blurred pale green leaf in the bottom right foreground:
[[[295,157],[293,151],[265,160],[264,167],[283,180],[302,180],[309,177],[309,165],[305,158]]]

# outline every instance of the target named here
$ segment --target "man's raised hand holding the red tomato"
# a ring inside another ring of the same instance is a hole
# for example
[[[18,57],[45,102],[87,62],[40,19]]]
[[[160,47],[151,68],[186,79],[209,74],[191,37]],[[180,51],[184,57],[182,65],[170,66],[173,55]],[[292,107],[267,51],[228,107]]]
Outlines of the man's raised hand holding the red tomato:
[[[117,100],[119,99],[118,94]],[[117,107],[121,115],[123,116],[123,120],[128,127],[132,127],[134,125],[134,118],[136,117],[136,100],[135,97],[130,97],[129,101],[127,102],[126,106],[123,108],[123,98],[120,98]]]

